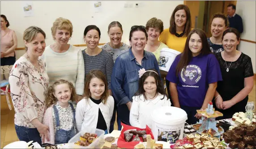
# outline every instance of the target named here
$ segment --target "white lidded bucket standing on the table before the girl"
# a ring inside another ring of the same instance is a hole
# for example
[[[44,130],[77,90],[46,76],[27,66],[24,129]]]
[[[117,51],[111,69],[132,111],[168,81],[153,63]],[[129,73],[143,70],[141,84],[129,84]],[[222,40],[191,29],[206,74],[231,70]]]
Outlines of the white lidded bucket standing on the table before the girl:
[[[176,107],[159,107],[151,113],[152,132],[155,141],[175,143],[183,138],[187,113]]]

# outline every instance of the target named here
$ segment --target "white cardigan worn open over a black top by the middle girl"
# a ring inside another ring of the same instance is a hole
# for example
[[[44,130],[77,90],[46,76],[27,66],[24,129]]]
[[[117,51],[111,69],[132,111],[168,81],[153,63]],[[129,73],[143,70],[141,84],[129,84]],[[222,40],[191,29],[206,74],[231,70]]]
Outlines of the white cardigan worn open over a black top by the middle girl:
[[[76,121],[78,131],[81,131],[85,127],[96,129],[98,122],[98,109],[100,109],[106,121],[107,131],[109,132],[110,121],[114,111],[114,98],[112,96],[107,98],[105,105],[102,102],[97,105],[90,98],[83,98],[77,103]]]

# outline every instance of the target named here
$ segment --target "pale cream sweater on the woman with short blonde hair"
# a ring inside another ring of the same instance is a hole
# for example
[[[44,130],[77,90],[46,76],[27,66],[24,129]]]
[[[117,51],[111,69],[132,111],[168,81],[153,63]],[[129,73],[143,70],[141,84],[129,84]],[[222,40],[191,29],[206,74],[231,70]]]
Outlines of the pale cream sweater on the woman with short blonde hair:
[[[71,82],[78,95],[84,94],[85,69],[80,48],[70,44],[68,51],[54,52],[50,45],[45,48],[41,59],[45,62],[50,85],[59,79]]]

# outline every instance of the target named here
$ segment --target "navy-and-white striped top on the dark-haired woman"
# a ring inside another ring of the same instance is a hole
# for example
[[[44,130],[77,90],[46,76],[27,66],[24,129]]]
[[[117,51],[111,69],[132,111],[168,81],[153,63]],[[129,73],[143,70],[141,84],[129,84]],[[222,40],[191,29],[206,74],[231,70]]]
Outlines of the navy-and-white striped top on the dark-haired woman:
[[[84,65],[85,65],[85,78],[87,74],[94,69],[101,70],[107,78],[108,89],[111,89],[111,75],[114,67],[113,56],[110,52],[102,50],[98,55],[89,56],[82,50]]]

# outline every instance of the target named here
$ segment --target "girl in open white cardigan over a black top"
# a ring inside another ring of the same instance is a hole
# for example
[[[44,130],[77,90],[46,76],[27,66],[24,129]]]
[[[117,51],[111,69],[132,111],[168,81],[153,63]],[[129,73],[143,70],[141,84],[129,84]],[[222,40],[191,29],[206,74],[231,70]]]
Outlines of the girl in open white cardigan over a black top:
[[[85,97],[77,103],[77,129],[102,129],[109,133],[114,98],[109,95],[107,79],[100,70],[91,70],[85,79]]]

